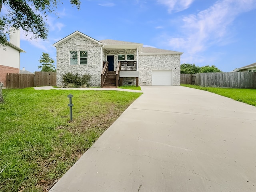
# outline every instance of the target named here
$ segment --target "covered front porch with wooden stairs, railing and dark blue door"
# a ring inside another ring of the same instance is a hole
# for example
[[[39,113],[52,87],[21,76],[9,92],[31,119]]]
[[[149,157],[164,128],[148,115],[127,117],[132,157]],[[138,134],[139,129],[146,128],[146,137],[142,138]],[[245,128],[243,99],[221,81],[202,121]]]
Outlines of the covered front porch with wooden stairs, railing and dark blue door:
[[[142,44],[117,40],[104,40],[102,43],[101,87],[122,86],[127,78],[132,78],[132,84],[138,86],[138,61]]]

